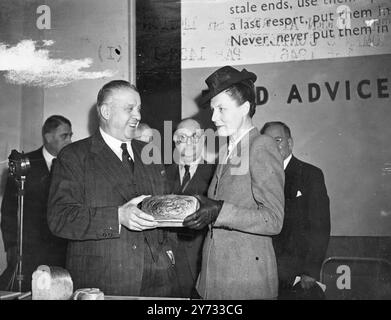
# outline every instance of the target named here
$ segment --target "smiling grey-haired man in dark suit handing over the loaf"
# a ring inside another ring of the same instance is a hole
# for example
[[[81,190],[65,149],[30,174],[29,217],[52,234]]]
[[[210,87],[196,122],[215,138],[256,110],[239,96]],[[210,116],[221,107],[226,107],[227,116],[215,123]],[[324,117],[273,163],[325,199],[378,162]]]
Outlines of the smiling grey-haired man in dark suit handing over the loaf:
[[[99,129],[62,150],[48,202],[52,232],[69,240],[75,288],[106,295],[176,295],[176,236],[138,209],[144,195],[168,193],[161,164],[145,164],[135,140],[141,100],[127,81],[98,93]]]

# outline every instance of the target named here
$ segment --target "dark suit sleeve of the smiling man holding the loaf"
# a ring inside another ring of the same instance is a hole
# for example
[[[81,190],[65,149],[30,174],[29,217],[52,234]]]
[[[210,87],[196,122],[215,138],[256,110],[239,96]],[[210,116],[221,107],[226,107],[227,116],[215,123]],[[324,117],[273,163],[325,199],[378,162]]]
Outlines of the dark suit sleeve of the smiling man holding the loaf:
[[[54,165],[50,185],[47,217],[50,230],[71,240],[118,238],[118,207],[93,207],[88,203],[84,161],[72,149],[63,151]]]

